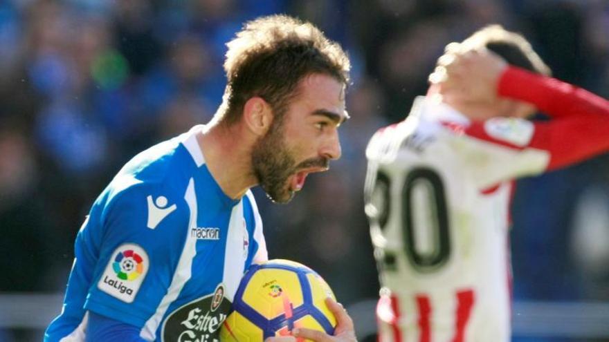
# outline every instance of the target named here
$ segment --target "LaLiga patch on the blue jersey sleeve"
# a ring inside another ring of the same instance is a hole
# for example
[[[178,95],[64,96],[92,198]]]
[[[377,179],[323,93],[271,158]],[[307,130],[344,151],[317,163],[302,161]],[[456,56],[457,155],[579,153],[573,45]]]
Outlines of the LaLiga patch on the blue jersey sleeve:
[[[125,303],[132,303],[149,268],[146,251],[133,243],[125,243],[114,250],[98,288]]]

